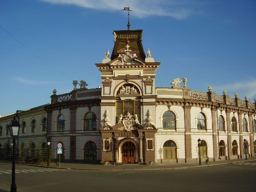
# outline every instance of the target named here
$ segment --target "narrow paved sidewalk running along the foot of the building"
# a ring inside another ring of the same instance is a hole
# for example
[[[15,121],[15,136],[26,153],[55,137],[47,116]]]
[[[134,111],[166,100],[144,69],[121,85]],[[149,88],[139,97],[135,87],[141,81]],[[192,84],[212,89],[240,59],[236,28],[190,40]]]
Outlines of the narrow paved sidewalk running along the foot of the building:
[[[59,167],[56,163],[51,163],[49,168],[51,169],[75,169],[75,170],[98,170],[98,171],[121,171],[121,170],[165,170],[165,169],[187,169],[190,167],[205,167],[205,166],[214,166],[214,165],[223,165],[228,163],[235,162],[250,162],[256,160],[255,157],[249,158],[247,161],[245,159],[232,159],[232,160],[223,160],[223,161],[214,161],[209,162],[207,165],[202,163],[177,163],[177,164],[153,164],[153,165],[139,165],[139,164],[124,164],[124,165],[99,165],[99,164],[90,164],[90,163],[67,163],[61,162],[61,166]],[[11,163],[11,162],[10,162]],[[28,166],[36,166],[36,167],[45,167],[47,165],[38,165],[31,163],[19,163],[18,165],[28,165]]]

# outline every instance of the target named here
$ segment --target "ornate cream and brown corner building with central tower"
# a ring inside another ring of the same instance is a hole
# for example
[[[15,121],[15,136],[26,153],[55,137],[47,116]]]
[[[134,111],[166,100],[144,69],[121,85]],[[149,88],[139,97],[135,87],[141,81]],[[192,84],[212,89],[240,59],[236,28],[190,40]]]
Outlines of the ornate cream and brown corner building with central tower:
[[[205,93],[190,90],[186,78],[155,87],[160,62],[149,49],[145,54],[142,30],[113,34],[111,55],[107,50],[96,64],[102,87],[74,81],[70,93],[54,90],[50,104],[17,111],[21,159],[27,147],[45,149],[47,141],[53,158],[62,143],[67,161],[184,163],[199,161],[199,154],[202,161],[255,155],[256,102],[231,98],[225,90],[216,95],[210,86]],[[1,156],[14,115],[0,118]]]

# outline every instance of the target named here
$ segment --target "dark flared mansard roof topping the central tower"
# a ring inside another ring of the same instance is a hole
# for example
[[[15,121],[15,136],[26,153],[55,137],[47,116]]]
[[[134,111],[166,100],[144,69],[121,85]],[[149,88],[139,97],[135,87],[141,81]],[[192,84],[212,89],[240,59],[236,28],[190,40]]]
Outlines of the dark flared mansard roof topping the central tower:
[[[118,57],[118,50],[125,48],[127,39],[131,49],[138,51],[137,57],[145,61],[146,55],[142,46],[142,30],[114,31],[115,45],[111,54],[111,60]]]

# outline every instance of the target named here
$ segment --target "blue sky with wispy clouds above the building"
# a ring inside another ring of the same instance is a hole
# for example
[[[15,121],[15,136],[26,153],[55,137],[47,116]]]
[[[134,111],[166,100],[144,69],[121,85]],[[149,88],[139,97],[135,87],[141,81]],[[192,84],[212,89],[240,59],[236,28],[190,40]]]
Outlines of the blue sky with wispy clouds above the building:
[[[157,71],[157,87],[186,77],[192,90],[207,86],[230,97],[256,97],[256,1],[237,0],[1,0],[0,115],[50,102],[73,89],[101,85],[95,63],[113,49],[113,30],[143,30]]]

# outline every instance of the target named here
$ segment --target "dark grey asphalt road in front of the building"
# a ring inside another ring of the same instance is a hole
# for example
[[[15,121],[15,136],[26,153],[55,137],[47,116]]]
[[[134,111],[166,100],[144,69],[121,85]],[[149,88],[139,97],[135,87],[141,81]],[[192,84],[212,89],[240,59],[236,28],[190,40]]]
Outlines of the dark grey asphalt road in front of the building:
[[[256,191],[256,161],[137,171],[59,170],[24,165],[16,168],[19,192]],[[10,191],[10,185],[11,165],[0,163],[0,191]]]

